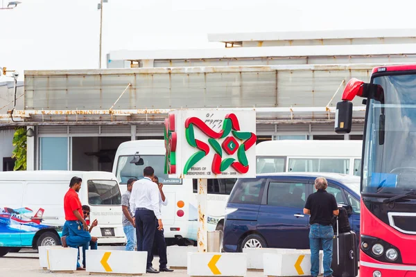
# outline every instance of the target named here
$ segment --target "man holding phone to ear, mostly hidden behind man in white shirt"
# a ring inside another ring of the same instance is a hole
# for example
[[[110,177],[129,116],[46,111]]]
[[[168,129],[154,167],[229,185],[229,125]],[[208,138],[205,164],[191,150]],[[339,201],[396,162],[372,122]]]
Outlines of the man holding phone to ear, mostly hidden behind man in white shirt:
[[[159,183],[159,178],[157,178],[156,175],[153,176],[153,181],[155,182],[155,184],[157,184],[159,188],[159,210],[162,212],[162,205],[166,206],[168,204],[168,199],[165,197],[163,193],[163,184]],[[155,222],[155,224],[157,228],[159,226],[157,221]],[[173,269],[168,269],[168,267],[166,266],[168,264],[168,256],[166,253],[166,240],[164,238],[163,229],[159,230],[157,228],[155,232],[155,244],[157,247],[157,253],[159,253],[159,271],[172,272]],[[153,261],[153,255],[151,260]]]

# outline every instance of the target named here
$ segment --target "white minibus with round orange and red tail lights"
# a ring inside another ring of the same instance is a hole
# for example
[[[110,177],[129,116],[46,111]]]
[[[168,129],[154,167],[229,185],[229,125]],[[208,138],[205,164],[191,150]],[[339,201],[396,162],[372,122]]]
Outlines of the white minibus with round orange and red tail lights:
[[[196,230],[189,228],[189,220],[197,220],[198,210],[191,204],[192,180],[169,178],[164,174],[164,140],[139,140],[121,143],[114,159],[113,173],[119,181],[122,193],[130,178],[143,178],[143,170],[151,166],[155,175],[164,184],[163,190],[168,205],[162,206],[164,237],[167,244],[189,244],[187,239],[196,239]],[[142,159],[142,164],[137,161]],[[195,235],[193,235],[195,234]]]

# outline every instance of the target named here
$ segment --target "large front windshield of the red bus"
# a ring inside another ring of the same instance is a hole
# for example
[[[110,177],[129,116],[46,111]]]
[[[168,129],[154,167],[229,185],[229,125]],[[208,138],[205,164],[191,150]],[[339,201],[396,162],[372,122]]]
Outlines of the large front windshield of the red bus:
[[[369,99],[363,192],[402,194],[416,189],[416,75],[374,78],[383,97]]]

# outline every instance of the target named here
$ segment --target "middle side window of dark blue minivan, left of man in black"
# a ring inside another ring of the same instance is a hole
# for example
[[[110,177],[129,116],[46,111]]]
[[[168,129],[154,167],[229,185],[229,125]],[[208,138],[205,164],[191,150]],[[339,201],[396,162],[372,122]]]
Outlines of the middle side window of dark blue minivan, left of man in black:
[[[267,204],[303,208],[305,206],[306,184],[270,182],[267,193]]]

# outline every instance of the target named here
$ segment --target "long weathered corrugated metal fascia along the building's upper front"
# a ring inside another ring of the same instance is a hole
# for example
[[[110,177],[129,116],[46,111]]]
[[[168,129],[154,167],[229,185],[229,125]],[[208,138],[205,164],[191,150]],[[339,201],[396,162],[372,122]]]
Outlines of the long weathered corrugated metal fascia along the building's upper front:
[[[340,91],[349,78],[369,80],[372,67],[365,64],[26,71],[25,109],[108,110],[129,83],[131,86],[113,109],[325,107],[342,82]]]

